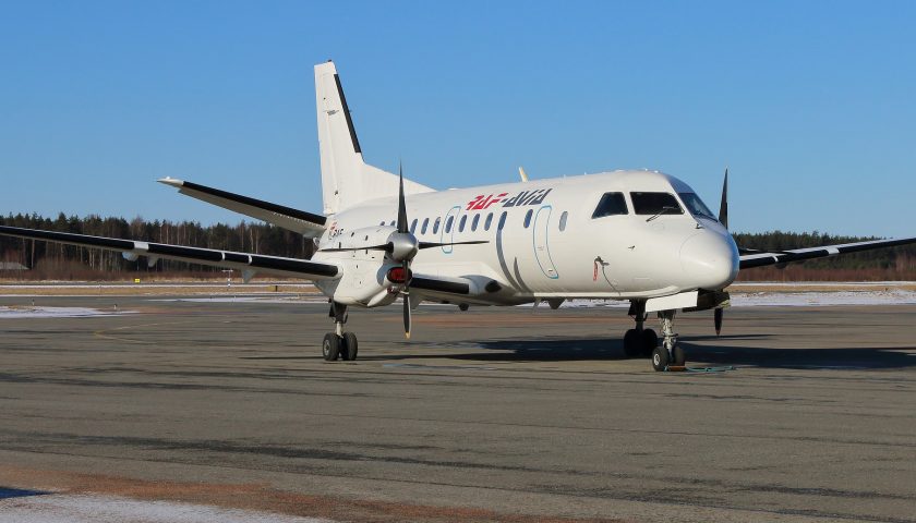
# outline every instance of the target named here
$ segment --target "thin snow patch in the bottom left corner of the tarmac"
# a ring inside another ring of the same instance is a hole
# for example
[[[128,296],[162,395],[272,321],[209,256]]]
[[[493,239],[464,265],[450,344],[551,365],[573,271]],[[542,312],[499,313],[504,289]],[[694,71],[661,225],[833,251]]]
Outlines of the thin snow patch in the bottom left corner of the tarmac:
[[[329,523],[253,510],[117,496],[45,495],[0,500],[0,523]]]

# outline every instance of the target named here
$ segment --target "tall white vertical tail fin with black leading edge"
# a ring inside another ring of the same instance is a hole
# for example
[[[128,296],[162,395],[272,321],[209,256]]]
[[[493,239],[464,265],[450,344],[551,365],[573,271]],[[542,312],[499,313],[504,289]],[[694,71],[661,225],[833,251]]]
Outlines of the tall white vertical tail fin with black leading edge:
[[[360,141],[334,62],[315,65],[315,101],[322,156],[324,212],[330,215],[367,199],[397,196],[398,177],[363,161]],[[405,194],[434,191],[409,180]]]

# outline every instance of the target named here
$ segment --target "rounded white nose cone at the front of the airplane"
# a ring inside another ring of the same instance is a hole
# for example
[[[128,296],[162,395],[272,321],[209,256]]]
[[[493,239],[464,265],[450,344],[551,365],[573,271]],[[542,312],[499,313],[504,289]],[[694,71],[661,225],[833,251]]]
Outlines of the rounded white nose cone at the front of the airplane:
[[[680,246],[680,267],[689,287],[724,289],[738,276],[738,247],[731,235],[702,231]]]

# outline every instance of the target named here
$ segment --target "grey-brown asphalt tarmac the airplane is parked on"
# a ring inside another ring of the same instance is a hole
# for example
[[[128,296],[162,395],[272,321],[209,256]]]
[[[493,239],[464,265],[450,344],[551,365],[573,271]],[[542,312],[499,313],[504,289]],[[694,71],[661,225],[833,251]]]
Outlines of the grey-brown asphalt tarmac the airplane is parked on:
[[[734,307],[720,337],[678,315],[714,372],[655,373],[624,358],[619,308],[422,306],[409,341],[399,306],[353,309],[359,360],[327,363],[327,304],[37,302],[107,315],[0,318],[0,521],[93,494],[278,520],[916,522],[916,305]]]

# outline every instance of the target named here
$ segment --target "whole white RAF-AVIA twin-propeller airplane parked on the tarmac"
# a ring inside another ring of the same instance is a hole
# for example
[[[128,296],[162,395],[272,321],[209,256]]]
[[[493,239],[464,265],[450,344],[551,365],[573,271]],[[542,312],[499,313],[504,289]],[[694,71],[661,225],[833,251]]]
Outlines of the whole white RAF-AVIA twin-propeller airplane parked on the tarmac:
[[[405,332],[422,301],[469,305],[569,299],[627,300],[635,328],[628,356],[651,356],[663,370],[684,365],[677,311],[728,305],[724,289],[739,269],[916,243],[916,238],[800,248],[739,250],[727,231],[727,171],[719,216],[683,181],[654,171],[614,171],[435,191],[363,161],[333,62],[315,65],[324,214],[166,178],[181,194],[314,239],[310,260],[0,227],[0,234],[312,280],[328,296],[335,331],[327,361],[355,360],[347,312],[403,297]],[[525,180],[527,177],[522,174]],[[661,319],[662,343],[644,324]]]

